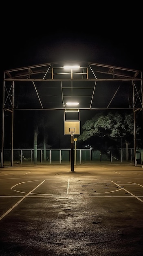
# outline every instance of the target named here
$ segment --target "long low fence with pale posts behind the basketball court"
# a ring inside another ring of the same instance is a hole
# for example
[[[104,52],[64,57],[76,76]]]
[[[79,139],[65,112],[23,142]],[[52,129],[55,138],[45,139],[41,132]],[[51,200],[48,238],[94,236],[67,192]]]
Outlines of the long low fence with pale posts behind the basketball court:
[[[136,151],[136,164],[143,164],[143,150]],[[37,149],[35,161],[34,149],[14,149],[13,164],[70,164],[70,149]],[[4,150],[4,165],[11,165],[11,150]],[[1,161],[1,159],[0,159]],[[76,149],[75,164],[134,164],[134,149],[120,148],[108,150]]]

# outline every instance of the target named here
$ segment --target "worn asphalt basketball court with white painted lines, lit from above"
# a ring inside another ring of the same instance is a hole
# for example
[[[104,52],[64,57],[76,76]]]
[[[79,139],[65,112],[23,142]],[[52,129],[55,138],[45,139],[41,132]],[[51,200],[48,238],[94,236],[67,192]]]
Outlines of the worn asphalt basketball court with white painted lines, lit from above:
[[[142,255],[142,166],[0,168],[0,245],[2,256]]]

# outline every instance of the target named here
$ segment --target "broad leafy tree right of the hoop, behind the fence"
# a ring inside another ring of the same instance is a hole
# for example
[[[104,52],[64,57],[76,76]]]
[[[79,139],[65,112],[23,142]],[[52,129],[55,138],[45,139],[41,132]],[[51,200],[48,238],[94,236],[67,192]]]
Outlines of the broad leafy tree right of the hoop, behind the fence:
[[[118,140],[124,138],[126,145],[126,158],[128,160],[128,145],[134,136],[134,120],[133,114],[120,114],[119,112],[108,115],[99,113],[87,120],[82,126],[84,132],[77,138],[78,141],[86,141],[93,136],[105,137]],[[136,127],[136,133],[139,132],[139,127]]]

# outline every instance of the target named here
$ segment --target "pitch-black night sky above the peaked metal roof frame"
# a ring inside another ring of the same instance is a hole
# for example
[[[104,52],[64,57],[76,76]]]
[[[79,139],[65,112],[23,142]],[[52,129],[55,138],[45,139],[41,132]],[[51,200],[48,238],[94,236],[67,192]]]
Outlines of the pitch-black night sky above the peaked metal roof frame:
[[[142,8],[109,3],[3,3],[1,72],[62,60],[143,69]]]

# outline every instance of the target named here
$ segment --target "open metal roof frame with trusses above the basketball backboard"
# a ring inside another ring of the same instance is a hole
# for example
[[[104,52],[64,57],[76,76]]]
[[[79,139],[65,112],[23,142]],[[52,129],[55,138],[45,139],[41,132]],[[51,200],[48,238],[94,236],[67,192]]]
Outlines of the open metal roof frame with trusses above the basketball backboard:
[[[143,107],[141,71],[96,63],[78,64],[79,70],[64,70],[64,63],[47,63],[5,71],[4,108],[11,110],[17,108],[65,109],[68,99],[78,99],[79,109],[133,108],[132,83],[137,93],[134,108]],[[15,88],[14,106],[10,100],[12,86]],[[20,90],[20,86],[25,87],[26,97],[27,94],[29,98],[33,97],[33,106],[27,102],[22,104],[24,94],[20,95],[16,91],[18,87]],[[106,88],[105,92],[103,88]],[[124,90],[126,90],[125,93]],[[119,97],[121,99],[121,94],[124,97],[126,95],[126,103],[123,106],[121,104],[117,106],[117,99],[118,101]],[[102,99],[104,103],[101,102]]]

